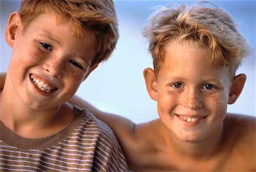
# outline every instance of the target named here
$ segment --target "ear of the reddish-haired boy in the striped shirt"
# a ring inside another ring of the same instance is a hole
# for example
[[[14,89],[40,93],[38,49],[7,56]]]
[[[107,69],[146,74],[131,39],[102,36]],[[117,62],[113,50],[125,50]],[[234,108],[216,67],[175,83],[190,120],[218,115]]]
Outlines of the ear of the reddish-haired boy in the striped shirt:
[[[5,40],[8,45],[13,48],[14,42],[16,41],[16,36],[22,28],[22,19],[18,12],[13,12],[10,15],[9,21],[5,29]]]

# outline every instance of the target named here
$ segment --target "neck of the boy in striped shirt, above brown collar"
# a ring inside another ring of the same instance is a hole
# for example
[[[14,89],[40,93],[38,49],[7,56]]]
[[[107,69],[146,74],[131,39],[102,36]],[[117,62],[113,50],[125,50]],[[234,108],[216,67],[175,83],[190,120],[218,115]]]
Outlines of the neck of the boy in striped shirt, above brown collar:
[[[0,92],[0,121],[16,134],[39,137],[36,131],[42,131],[60,119],[61,105],[44,110],[32,109],[9,91],[5,87]]]

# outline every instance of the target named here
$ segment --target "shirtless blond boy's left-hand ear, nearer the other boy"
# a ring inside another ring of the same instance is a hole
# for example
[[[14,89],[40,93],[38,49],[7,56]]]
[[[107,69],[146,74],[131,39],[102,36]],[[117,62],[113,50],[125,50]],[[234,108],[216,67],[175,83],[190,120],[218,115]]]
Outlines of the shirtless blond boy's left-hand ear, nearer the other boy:
[[[152,100],[157,101],[158,100],[158,85],[156,83],[156,78],[155,78],[155,71],[152,70],[151,68],[146,68],[143,71],[146,87],[147,87],[147,92],[152,98]]]

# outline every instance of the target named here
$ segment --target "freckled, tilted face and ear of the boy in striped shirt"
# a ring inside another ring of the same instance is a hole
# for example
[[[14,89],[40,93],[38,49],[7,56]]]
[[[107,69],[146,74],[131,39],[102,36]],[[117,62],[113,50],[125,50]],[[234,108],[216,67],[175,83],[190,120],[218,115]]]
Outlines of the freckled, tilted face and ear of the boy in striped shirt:
[[[57,25],[53,14],[40,15],[22,33],[19,14],[12,15],[6,30],[13,48],[7,72],[12,92],[34,109],[69,100],[94,69],[89,68],[96,55],[92,33],[77,38],[68,20]]]

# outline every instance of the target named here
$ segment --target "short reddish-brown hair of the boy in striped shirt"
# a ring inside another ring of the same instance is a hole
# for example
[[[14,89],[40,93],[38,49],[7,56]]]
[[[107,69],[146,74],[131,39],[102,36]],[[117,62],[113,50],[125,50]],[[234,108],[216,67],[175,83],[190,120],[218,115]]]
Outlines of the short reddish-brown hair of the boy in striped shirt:
[[[32,20],[47,12],[52,12],[60,24],[70,19],[77,37],[84,35],[86,29],[93,32],[96,57],[91,66],[110,57],[119,37],[112,0],[23,0],[19,9],[23,31]]]

